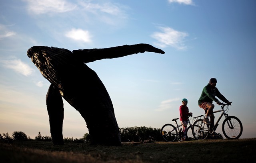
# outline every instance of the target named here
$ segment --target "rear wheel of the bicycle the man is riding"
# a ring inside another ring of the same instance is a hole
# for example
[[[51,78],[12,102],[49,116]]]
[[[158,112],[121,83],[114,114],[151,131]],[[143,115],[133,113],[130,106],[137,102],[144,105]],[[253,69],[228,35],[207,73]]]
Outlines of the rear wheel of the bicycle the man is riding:
[[[202,140],[206,139],[208,136],[208,125],[206,125],[203,120],[196,120],[192,127],[192,134],[195,139]]]

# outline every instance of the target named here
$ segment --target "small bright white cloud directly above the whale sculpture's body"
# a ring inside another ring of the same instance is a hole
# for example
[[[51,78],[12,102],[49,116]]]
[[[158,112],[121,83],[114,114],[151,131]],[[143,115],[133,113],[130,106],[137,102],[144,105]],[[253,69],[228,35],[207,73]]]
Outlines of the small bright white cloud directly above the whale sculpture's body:
[[[91,39],[90,39],[90,33],[89,31],[85,31],[85,30],[82,30],[82,29],[71,29],[71,31],[68,31],[66,34],[65,34],[66,37],[69,37],[71,39],[74,39],[76,41],[83,41],[83,42],[91,42]]]

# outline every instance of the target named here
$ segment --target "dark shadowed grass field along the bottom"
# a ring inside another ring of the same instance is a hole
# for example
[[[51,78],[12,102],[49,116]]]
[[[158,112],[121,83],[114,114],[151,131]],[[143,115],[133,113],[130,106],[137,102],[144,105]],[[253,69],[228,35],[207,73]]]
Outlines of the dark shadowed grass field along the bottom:
[[[44,141],[0,143],[1,163],[247,163],[256,138],[122,143],[121,147]]]

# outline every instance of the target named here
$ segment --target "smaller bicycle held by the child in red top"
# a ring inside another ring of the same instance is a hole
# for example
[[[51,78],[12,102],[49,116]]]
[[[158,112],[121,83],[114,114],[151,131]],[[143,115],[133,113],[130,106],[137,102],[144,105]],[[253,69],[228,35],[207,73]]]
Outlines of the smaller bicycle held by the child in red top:
[[[165,141],[172,142],[172,141],[179,141],[183,137],[183,127],[182,124],[178,125],[177,120],[180,118],[174,118],[172,121],[175,122],[176,127],[172,124],[165,124],[161,128],[161,135],[164,138]],[[188,131],[186,134],[186,140],[192,140],[194,139],[192,134],[192,125],[190,123],[190,120],[192,120],[192,116],[189,116],[188,118]]]

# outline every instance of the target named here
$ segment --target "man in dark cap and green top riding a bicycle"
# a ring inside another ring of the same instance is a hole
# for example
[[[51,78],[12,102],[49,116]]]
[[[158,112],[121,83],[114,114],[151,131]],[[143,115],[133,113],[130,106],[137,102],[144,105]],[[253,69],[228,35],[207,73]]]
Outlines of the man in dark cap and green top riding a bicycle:
[[[221,104],[221,102],[215,97],[217,96],[220,100],[225,102],[228,105],[231,105],[231,102],[229,102],[216,88],[217,79],[211,78],[209,83],[204,86],[202,94],[198,100],[198,105],[200,108],[203,108],[205,110],[206,116],[203,120],[205,124],[210,125],[211,128],[214,127],[214,114],[213,114],[213,108],[214,104],[212,104],[212,101],[215,101],[218,105]],[[210,116],[210,121],[209,121]]]

